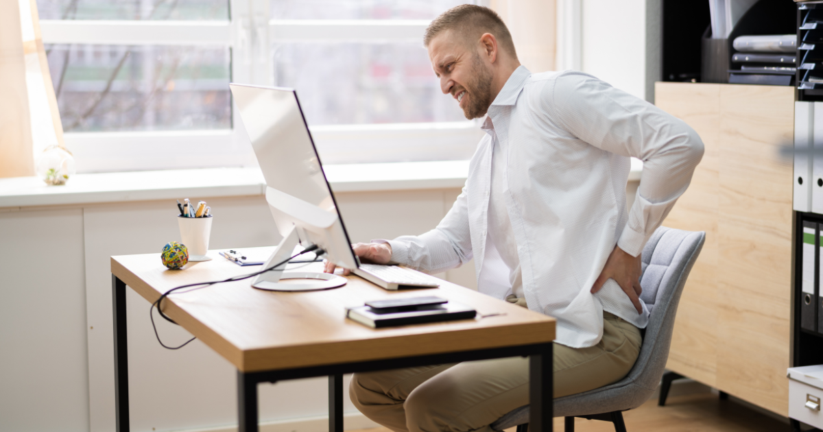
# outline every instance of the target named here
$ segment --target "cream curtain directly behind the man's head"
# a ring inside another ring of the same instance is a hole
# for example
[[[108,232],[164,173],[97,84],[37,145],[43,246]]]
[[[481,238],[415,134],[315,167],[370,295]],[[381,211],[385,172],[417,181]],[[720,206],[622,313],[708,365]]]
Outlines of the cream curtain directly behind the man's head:
[[[523,66],[532,73],[555,69],[556,0],[491,0],[505,21]]]

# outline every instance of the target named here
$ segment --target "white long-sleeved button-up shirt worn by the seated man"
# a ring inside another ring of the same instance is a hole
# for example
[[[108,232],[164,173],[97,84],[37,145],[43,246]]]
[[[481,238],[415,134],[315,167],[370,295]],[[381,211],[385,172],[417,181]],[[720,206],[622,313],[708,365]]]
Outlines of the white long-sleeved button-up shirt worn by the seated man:
[[[392,260],[434,273],[474,258],[478,290],[500,299],[521,277],[528,308],[557,319],[565,346],[596,345],[604,310],[644,328],[648,309],[638,314],[616,281],[590,290],[615,245],[638,256],[686,191],[700,137],[590,75],[522,66],[483,128],[463,193],[434,230],[389,241]],[[630,156],[644,169],[629,211]]]

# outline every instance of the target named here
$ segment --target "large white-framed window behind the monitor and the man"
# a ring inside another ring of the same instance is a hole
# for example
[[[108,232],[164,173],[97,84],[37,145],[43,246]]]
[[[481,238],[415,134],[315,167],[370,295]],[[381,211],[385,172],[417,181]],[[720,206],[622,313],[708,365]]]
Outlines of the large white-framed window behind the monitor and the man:
[[[297,90],[325,163],[454,160],[480,132],[422,34],[458,0],[39,0],[81,172],[249,166],[229,82]]]

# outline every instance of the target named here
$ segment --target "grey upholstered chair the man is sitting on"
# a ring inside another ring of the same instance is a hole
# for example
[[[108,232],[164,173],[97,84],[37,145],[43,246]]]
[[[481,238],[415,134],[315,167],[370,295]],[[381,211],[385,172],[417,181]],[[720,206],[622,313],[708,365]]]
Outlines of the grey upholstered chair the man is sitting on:
[[[642,405],[658,388],[666,366],[677,304],[706,234],[661,226],[643,249],[642,300],[651,312],[635,366],[624,379],[602,388],[555,399],[554,415],[565,417],[565,432],[574,432],[574,417],[614,423],[626,432],[622,411]],[[518,426],[528,432],[528,405],[491,424],[494,430]]]

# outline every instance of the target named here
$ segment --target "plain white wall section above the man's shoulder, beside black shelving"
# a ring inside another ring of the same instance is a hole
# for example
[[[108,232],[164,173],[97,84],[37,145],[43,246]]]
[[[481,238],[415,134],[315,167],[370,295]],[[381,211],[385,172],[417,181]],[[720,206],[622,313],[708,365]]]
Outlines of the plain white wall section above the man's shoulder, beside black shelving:
[[[565,0],[565,6],[576,1]],[[653,102],[660,74],[660,0],[582,0],[579,26],[580,70]]]

